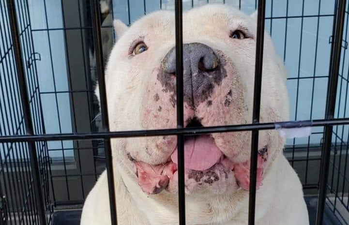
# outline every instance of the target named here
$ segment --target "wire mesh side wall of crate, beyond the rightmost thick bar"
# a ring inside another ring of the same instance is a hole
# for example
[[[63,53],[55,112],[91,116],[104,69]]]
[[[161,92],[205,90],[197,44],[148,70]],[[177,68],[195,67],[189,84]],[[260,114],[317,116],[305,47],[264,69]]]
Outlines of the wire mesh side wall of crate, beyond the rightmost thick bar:
[[[346,5],[344,33],[342,40],[342,54],[339,67],[339,79],[337,84],[337,101],[334,112],[335,118],[348,117],[348,55],[347,55],[347,37],[348,37],[348,2]],[[330,42],[332,41],[332,37]],[[348,208],[348,192],[349,183],[347,175],[347,160],[348,160],[348,143],[349,143],[349,127],[334,126],[332,136],[331,161],[330,161],[330,176],[328,181],[327,200],[334,213],[348,224],[346,213]]]

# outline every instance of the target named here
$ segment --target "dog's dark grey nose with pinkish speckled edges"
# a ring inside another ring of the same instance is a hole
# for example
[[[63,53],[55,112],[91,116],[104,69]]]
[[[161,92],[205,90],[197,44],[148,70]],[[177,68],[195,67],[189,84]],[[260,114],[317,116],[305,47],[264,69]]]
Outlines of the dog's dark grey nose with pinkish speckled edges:
[[[211,47],[201,43],[183,45],[183,92],[188,105],[197,106],[210,96],[213,83],[222,76],[219,64]],[[169,76],[176,75],[175,47],[162,61],[162,69]]]

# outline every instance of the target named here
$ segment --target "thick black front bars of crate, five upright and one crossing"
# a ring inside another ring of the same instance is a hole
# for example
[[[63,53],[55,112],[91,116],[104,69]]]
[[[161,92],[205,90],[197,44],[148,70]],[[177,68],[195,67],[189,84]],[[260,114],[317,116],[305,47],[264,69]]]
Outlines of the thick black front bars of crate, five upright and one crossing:
[[[321,126],[324,127],[324,142],[322,146],[322,160],[320,168],[319,181],[319,202],[317,210],[316,224],[322,225],[323,212],[326,201],[327,181],[330,170],[330,156],[331,144],[334,125],[348,125],[349,118],[334,119],[334,109],[337,94],[338,73],[340,65],[344,16],[346,0],[337,0],[335,2],[335,19],[333,26],[333,39],[330,58],[330,75],[328,82],[327,101],[325,119],[323,120],[309,120],[309,121],[284,121],[277,123],[259,123],[259,107],[260,107],[260,90],[261,90],[261,72],[263,59],[263,37],[264,37],[264,19],[265,19],[265,0],[258,1],[258,31],[257,31],[257,48],[256,48],[256,67],[255,67],[255,83],[254,83],[254,107],[253,107],[253,122],[244,125],[231,126],[216,126],[203,128],[184,128],[183,127],[183,54],[182,54],[182,1],[175,1],[175,21],[176,21],[176,73],[177,75],[177,129],[163,129],[163,130],[142,130],[142,131],[120,131],[109,132],[109,121],[107,115],[106,104],[106,89],[104,80],[104,62],[101,42],[101,26],[99,17],[99,4],[96,0],[91,0],[92,13],[92,32],[94,37],[94,47],[96,52],[96,68],[99,83],[100,105],[102,114],[103,132],[85,133],[85,134],[42,134],[34,135],[33,121],[30,111],[30,99],[27,89],[27,78],[24,71],[23,56],[21,52],[21,42],[18,30],[18,21],[16,16],[15,1],[7,0],[8,15],[11,26],[11,36],[13,41],[13,48],[15,54],[15,65],[17,70],[17,78],[19,82],[19,90],[21,96],[21,106],[23,108],[24,123],[26,128],[26,135],[0,136],[0,143],[15,143],[27,142],[30,153],[30,168],[33,177],[34,195],[38,199],[36,207],[38,210],[38,217],[41,225],[46,225],[46,206],[44,202],[44,194],[41,188],[40,181],[40,166],[38,155],[36,152],[35,142],[49,141],[49,140],[86,140],[86,139],[103,139],[105,143],[106,152],[106,170],[108,178],[109,202],[111,211],[111,222],[113,225],[117,224],[115,187],[113,176],[113,162],[111,160],[110,138],[121,137],[140,137],[153,135],[177,135],[178,137],[178,174],[179,174],[179,224],[185,224],[185,195],[184,195],[184,136],[185,135],[200,135],[216,132],[238,132],[251,131],[251,167],[250,167],[250,192],[249,192],[249,213],[248,224],[255,224],[255,201],[256,201],[256,170],[257,170],[257,152],[258,152],[258,131],[275,129],[279,126],[290,124],[288,128],[296,128],[302,126]]]

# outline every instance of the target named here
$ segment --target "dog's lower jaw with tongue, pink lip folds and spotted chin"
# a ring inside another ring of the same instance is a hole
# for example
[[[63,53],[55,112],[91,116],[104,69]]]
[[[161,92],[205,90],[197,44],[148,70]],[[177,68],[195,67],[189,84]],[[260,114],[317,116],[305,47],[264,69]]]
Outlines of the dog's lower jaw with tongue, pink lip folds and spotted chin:
[[[258,151],[257,188],[262,185],[267,148]],[[147,164],[129,159],[136,167],[141,190],[148,195],[163,191],[178,192],[177,148],[164,163]],[[224,194],[239,188],[249,189],[249,162],[234,164],[217,147],[211,135],[197,135],[184,141],[185,192],[192,194]]]

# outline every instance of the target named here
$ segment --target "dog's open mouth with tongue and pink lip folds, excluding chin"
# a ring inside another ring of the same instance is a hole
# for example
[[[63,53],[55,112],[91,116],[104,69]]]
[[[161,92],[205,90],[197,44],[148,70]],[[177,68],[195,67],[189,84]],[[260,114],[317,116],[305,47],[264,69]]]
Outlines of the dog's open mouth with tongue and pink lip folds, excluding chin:
[[[186,127],[202,127],[197,118],[187,121]],[[267,161],[267,147],[258,150],[257,188],[262,185],[263,166]],[[178,164],[177,147],[167,159],[166,163],[160,165],[150,165],[140,161],[135,161],[130,156],[137,168],[136,175],[138,184],[147,194],[158,194],[166,189],[170,180],[177,174]],[[201,174],[212,174],[214,167],[223,167],[229,173],[234,174],[238,185],[244,190],[249,189],[250,164],[233,163],[217,147],[212,135],[186,136],[184,139],[184,167],[185,173],[200,172]],[[212,184],[212,182],[210,183]]]

